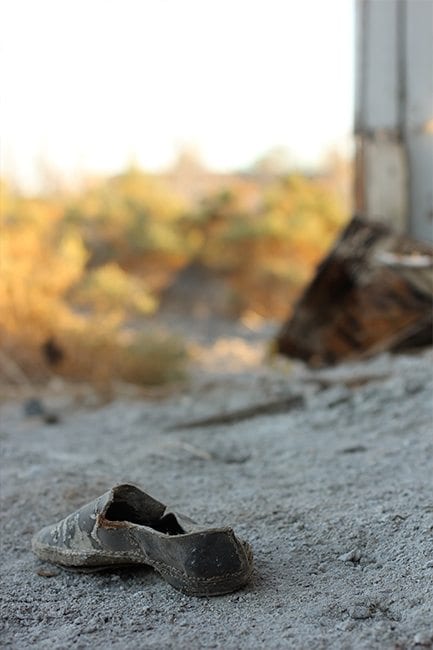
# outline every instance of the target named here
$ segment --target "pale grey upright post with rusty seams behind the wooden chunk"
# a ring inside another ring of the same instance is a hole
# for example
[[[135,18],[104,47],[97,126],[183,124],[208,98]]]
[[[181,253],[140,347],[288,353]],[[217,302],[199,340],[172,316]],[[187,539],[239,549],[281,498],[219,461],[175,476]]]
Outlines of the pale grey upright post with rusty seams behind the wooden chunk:
[[[356,209],[433,240],[433,0],[356,9]]]

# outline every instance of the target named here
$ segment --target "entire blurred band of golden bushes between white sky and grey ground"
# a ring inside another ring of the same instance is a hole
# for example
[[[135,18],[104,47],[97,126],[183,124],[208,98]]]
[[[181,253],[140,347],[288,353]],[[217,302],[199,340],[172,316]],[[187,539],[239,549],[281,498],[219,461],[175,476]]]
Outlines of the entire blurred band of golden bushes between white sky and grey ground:
[[[185,347],[148,317],[182,268],[223,278],[232,315],[283,318],[348,217],[329,177],[220,177],[194,200],[167,178],[131,168],[37,197],[1,184],[0,346],[28,376],[178,379]],[[52,367],[47,340],[64,352]]]

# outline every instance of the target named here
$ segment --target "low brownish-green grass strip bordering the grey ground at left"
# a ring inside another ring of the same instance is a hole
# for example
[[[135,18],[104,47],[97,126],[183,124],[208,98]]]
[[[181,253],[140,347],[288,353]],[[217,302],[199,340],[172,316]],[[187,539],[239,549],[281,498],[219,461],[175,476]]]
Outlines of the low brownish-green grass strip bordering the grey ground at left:
[[[40,324],[39,324],[40,325]],[[51,336],[53,327],[47,328]],[[3,336],[1,336],[3,334]],[[154,330],[125,333],[114,320],[88,319],[56,331],[63,358],[50,367],[42,352],[42,329],[23,338],[0,332],[0,374],[20,385],[43,385],[53,376],[88,382],[103,399],[110,399],[118,382],[161,386],[186,377],[188,354],[181,339]]]

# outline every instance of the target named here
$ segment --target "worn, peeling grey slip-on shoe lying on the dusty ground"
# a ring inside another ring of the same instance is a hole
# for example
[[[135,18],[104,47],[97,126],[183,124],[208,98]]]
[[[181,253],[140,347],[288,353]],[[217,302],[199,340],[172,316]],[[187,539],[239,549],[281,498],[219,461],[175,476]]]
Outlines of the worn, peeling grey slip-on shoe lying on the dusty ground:
[[[252,571],[251,548],[231,528],[203,529],[129,483],[43,528],[32,548],[71,569],[146,564],[193,596],[235,591]]]

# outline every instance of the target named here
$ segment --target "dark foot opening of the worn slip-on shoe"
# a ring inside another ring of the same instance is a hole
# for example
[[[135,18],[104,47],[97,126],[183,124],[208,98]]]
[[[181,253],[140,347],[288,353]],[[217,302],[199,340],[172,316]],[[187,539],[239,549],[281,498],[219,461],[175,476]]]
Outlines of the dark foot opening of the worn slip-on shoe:
[[[119,490],[104,516],[108,521],[127,521],[148,526],[166,535],[185,533],[175,515],[171,512],[164,514],[164,511],[165,507],[151,497],[141,498],[141,495],[133,494],[132,491],[122,494]]]

